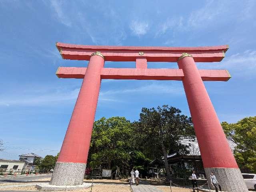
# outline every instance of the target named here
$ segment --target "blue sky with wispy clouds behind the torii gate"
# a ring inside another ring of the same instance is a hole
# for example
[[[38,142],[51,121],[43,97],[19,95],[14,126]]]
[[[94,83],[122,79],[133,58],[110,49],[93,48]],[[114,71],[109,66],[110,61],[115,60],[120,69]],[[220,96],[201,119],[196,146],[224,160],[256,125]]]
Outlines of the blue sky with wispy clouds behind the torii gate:
[[[58,79],[58,66],[86,67],[64,60],[55,42],[120,46],[214,46],[230,49],[220,63],[228,82],[205,82],[220,121],[256,115],[256,1],[0,1],[0,158],[21,153],[56,155],[60,150],[82,79]],[[106,62],[105,67],[135,67]],[[148,63],[178,68],[177,63]],[[180,81],[102,80],[96,120],[138,120],[142,107],[172,105],[190,115]]]

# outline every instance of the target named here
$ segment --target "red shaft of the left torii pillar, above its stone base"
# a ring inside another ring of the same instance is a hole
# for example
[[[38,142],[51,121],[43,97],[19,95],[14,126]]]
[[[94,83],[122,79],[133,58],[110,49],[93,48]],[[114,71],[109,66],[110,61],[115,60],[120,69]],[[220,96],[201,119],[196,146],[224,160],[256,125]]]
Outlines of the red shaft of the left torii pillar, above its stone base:
[[[104,59],[91,57],[57,162],[86,163],[100,92]]]

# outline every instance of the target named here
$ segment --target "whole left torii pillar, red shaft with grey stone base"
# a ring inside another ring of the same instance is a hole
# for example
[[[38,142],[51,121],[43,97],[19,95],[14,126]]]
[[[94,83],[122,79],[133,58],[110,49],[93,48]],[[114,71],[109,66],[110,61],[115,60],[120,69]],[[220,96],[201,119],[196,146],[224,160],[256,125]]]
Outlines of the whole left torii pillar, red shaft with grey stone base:
[[[93,53],[54,167],[51,185],[81,185],[84,182],[103,67],[104,56]]]

